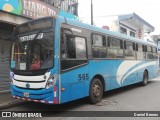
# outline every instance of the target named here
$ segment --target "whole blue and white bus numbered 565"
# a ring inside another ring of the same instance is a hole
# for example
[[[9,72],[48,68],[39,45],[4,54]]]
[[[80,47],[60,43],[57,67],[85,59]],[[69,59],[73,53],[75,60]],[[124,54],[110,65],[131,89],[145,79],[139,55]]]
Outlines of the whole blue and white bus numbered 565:
[[[11,48],[11,94],[62,104],[130,84],[146,85],[158,74],[157,47],[65,17],[45,17],[17,26]]]

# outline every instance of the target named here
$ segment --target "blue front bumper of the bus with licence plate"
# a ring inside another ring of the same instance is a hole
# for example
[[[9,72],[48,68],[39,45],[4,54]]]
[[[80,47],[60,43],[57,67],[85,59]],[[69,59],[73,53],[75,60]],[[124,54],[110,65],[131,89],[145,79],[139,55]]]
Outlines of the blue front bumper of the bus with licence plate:
[[[11,84],[10,91],[14,98],[46,104],[58,104],[58,89],[56,86],[49,89],[30,90]]]

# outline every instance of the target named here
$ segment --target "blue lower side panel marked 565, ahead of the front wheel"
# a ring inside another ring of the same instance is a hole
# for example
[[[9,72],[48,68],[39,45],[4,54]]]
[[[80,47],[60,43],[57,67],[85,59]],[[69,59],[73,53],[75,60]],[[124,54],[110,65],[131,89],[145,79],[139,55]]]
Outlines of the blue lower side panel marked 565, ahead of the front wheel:
[[[66,71],[61,74],[61,102],[68,102],[86,96],[85,89],[89,80],[88,65]]]

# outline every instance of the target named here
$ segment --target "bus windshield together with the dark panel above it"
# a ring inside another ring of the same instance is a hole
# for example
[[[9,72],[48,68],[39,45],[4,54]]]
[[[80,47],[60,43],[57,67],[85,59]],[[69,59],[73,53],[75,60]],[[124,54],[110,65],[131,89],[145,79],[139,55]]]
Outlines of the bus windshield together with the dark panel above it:
[[[52,26],[49,26],[49,20],[52,25],[53,19],[48,18],[45,19],[48,21],[46,26],[37,25],[43,21],[40,19],[22,24],[15,29],[10,60],[10,68],[14,73],[39,75],[54,67],[55,33]],[[22,30],[23,27],[25,30]]]

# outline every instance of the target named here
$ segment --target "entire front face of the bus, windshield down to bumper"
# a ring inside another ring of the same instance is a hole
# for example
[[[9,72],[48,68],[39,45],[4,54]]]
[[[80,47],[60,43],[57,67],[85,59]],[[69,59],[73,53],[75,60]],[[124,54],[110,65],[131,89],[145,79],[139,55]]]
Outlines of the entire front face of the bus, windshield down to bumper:
[[[55,20],[48,17],[16,27],[11,48],[11,94],[24,100],[58,103]]]

